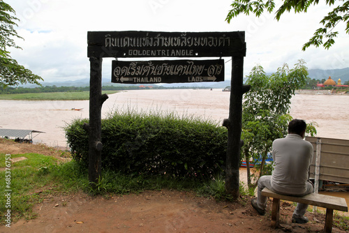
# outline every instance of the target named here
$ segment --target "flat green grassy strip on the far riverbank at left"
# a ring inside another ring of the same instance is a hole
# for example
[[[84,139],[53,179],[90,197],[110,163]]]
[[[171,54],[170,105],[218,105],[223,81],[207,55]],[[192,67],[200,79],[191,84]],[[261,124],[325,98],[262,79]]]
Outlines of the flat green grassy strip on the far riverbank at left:
[[[118,91],[102,91],[112,94]],[[89,100],[89,91],[1,94],[0,100]]]

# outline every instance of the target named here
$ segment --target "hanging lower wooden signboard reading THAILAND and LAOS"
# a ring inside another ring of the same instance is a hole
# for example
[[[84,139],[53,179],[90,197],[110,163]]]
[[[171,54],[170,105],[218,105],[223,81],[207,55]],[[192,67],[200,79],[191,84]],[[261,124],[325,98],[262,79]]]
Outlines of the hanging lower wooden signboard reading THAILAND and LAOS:
[[[112,61],[112,82],[124,84],[221,82],[224,60]]]

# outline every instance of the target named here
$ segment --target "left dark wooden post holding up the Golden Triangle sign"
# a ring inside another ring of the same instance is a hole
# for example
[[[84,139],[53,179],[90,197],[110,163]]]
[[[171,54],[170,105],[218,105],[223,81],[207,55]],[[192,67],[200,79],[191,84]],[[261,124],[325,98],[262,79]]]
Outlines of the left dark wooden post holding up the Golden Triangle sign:
[[[107,95],[102,96],[102,58],[90,57],[90,91],[89,91],[89,182],[98,182],[101,176],[101,110]]]

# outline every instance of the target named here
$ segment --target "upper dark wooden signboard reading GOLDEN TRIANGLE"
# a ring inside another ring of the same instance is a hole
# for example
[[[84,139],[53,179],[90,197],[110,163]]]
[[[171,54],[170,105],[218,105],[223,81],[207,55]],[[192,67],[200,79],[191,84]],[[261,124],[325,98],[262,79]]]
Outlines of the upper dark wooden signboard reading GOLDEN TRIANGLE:
[[[89,31],[87,57],[232,57],[246,55],[243,31]]]

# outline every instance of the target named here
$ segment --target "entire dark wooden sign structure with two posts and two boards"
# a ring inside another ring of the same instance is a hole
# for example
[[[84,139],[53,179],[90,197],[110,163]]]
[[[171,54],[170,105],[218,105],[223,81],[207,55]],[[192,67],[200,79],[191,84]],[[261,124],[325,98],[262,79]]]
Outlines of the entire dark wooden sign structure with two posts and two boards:
[[[228,128],[225,188],[239,197],[239,159],[242,130],[242,95],[246,56],[244,31],[164,32],[164,31],[88,31],[87,57],[90,60],[89,181],[101,175],[101,107],[107,95],[101,94],[103,57],[232,57],[232,79]],[[218,60],[113,61],[112,82],[219,82],[224,80],[224,63]]]

